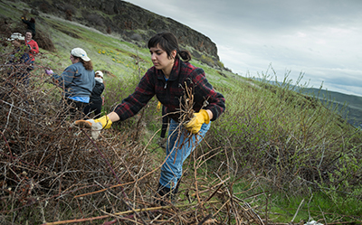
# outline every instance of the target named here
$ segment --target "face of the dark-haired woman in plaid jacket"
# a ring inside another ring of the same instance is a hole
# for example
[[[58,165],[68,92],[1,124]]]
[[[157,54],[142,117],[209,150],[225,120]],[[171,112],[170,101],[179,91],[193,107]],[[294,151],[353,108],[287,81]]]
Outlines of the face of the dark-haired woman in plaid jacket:
[[[170,58],[168,58],[167,52],[161,49],[158,44],[156,47],[150,48],[149,52],[151,53],[151,60],[156,69],[163,70],[164,74],[169,76],[175,62],[176,50],[171,52]]]

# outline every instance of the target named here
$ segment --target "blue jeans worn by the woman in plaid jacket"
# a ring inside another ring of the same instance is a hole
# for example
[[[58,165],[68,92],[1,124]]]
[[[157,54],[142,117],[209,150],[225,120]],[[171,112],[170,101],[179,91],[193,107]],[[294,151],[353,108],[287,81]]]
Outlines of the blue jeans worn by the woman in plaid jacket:
[[[210,125],[211,122],[203,124],[199,133],[190,136],[191,133],[186,131],[185,127],[171,119],[168,128],[166,162],[161,167],[161,177],[159,178],[161,185],[170,189],[175,188],[182,175],[182,164],[204,139]]]

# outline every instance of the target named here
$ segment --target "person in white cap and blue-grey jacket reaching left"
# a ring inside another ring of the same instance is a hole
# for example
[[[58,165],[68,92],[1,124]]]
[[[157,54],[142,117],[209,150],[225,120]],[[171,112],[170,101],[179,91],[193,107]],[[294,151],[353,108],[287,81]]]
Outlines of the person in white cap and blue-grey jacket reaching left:
[[[71,118],[83,117],[83,108],[90,102],[90,93],[95,86],[94,70],[87,52],[81,48],[71,50],[71,65],[61,75],[45,70],[53,82],[63,89],[63,117],[70,107]],[[81,115],[77,115],[81,114]]]

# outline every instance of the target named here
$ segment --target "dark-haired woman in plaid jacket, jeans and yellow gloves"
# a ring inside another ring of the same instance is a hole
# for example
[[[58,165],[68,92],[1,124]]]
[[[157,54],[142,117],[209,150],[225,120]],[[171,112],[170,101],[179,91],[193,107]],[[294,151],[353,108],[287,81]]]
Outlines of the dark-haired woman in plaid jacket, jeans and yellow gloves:
[[[157,33],[148,41],[153,67],[139,81],[134,93],[99,119],[78,120],[76,126],[92,128],[93,138],[112,122],[133,117],[155,95],[166,108],[170,125],[167,137],[166,162],[162,165],[157,187],[157,201],[165,204],[176,194],[182,175],[182,164],[202,141],[211,121],[224,112],[224,96],[206,80],[205,71],[193,66],[190,52],[180,51],[173,33]],[[192,89],[195,111],[189,121],[182,121],[180,106],[185,106],[185,89]]]

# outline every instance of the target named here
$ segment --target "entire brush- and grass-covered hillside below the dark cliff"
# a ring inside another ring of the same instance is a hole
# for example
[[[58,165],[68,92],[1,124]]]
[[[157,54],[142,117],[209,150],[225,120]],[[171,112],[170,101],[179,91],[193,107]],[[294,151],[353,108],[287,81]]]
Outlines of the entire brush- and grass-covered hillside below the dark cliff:
[[[362,221],[361,132],[318,100],[237,76],[217,63],[216,55],[186,44],[182,47],[196,55],[192,64],[223,93],[227,109],[186,159],[179,195],[166,207],[155,203],[165,159],[157,145],[157,98],[135,117],[102,130],[95,141],[89,130],[71,127],[71,119],[60,121],[62,90],[43,71],[61,73],[71,63],[71,49],[83,48],[94,69],[105,74],[103,113],[110,112],[152,65],[145,40],[135,34],[148,38],[156,30],[116,33],[113,28],[109,33],[84,20],[87,8],[74,9],[87,5],[84,1],[72,2],[71,18],[64,14],[64,3],[0,1],[0,223]],[[110,3],[89,1],[90,11],[102,18],[128,14],[115,6],[117,1]],[[141,10],[120,3],[131,12]],[[40,10],[42,5],[54,11]],[[8,33],[24,32],[22,14],[35,16],[36,40],[42,43],[29,87],[17,83],[18,67],[8,63],[13,49],[5,42]]]

